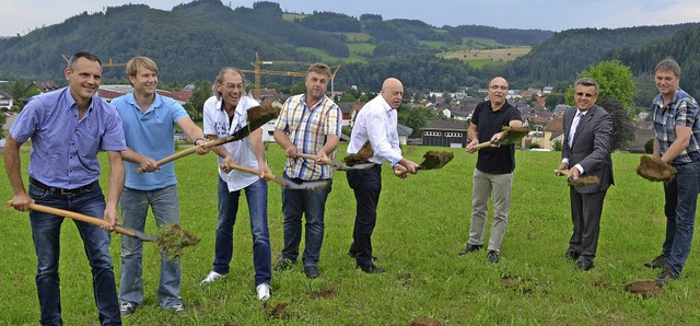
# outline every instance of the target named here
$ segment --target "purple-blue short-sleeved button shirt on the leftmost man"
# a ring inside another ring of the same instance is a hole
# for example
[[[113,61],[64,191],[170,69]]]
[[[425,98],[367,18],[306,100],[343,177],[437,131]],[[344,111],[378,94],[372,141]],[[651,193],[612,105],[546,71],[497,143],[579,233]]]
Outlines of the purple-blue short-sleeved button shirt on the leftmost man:
[[[101,150],[126,150],[114,106],[93,95],[88,112],[78,119],[78,105],[68,88],[30,98],[10,135],[21,143],[32,139],[30,176],[65,189],[100,178]]]

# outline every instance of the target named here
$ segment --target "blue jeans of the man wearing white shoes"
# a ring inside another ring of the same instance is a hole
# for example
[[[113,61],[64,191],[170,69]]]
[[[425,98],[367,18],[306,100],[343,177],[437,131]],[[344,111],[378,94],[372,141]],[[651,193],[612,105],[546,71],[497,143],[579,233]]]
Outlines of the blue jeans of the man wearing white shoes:
[[[244,189],[250,213],[255,286],[269,284],[272,278],[272,253],[270,232],[267,228],[267,182],[258,179]],[[238,198],[241,198],[241,190],[229,191],[226,182],[219,177],[219,223],[217,224],[213,270],[222,275],[229,272],[233,256],[233,225],[236,223]]]

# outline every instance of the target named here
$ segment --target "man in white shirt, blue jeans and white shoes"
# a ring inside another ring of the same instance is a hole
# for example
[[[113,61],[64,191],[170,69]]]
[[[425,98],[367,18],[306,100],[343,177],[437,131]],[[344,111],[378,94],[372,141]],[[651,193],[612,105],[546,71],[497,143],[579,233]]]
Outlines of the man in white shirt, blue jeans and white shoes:
[[[235,68],[225,67],[212,85],[215,96],[205,102],[205,133],[210,140],[226,137],[247,125],[247,109],[258,102],[245,95],[245,80]],[[267,224],[267,182],[270,172],[265,161],[262,129],[258,128],[242,140],[212,149],[219,164],[235,162],[256,168],[258,174],[219,167],[219,222],[214,245],[213,269],[200,284],[213,282],[229,272],[233,256],[233,225],[236,222],[241,190],[245,190],[253,233],[253,265],[258,299],[270,299],[272,257]]]

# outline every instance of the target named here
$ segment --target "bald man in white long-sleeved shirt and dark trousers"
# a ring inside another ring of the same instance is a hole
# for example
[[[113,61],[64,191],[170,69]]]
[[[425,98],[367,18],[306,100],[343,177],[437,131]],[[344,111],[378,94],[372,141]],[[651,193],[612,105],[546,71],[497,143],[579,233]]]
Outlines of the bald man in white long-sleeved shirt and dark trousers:
[[[382,191],[382,163],[392,163],[394,173],[400,178],[418,172],[418,165],[404,159],[399,148],[396,109],[401,105],[402,97],[401,82],[395,78],[386,79],[380,95],[358,113],[348,144],[348,154],[357,153],[368,140],[374,150],[374,156],[370,159],[375,163],[373,167],[348,171],[348,184],[358,202],[353,243],[348,254],[355,258],[357,267],[368,273],[383,272],[372,263],[372,232]]]

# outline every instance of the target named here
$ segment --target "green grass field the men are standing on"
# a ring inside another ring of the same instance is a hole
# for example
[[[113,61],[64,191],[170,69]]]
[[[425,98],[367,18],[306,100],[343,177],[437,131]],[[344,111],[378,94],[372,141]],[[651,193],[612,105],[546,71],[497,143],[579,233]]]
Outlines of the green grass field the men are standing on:
[[[432,148],[407,147],[420,161]],[[211,269],[217,224],[217,171],[213,154],[176,162],[183,226],[201,237],[183,257],[184,318],[158,307],[159,257],[144,244],[145,302],[125,319],[128,325],[409,325],[434,318],[444,325],[690,325],[698,323],[700,266],[691,253],[679,280],[665,294],[641,299],[625,284],[653,279],[657,270],[643,263],[661,252],[664,240],[662,184],[639,177],[637,154],[614,154],[616,186],[604,208],[595,268],[580,271],[563,254],[571,234],[569,188],[552,171],[559,152],[517,151],[513,198],[501,261],[486,252],[458,256],[468,237],[471,175],[476,155],[462,149],[444,168],[421,171],[408,179],[384,166],[377,225],[373,236],[376,264],[387,270],[365,275],[347,255],[352,242],[354,199],[346,175],[336,174],[326,207],[322,277],[308,280],[301,266],[272,273],[272,298],[255,296],[247,208],[235,228],[231,272],[199,287]],[[345,153],[345,147],[341,147]],[[26,168],[28,154],[23,155]],[[339,156],[345,156],[340,154]],[[103,158],[104,159],[104,158]],[[268,145],[268,161],[281,174],[283,152]],[[0,163],[2,165],[2,163]],[[103,173],[104,174],[104,173]],[[106,177],[106,174],[104,174]],[[26,179],[26,172],[24,174]],[[103,178],[103,185],[105,185]],[[280,189],[269,185],[272,259],[282,248]],[[0,177],[3,200],[11,198]],[[0,325],[36,324],[36,258],[27,214],[3,208],[0,218]],[[489,219],[490,225],[491,219]],[[488,241],[487,228],[487,241]],[[82,242],[72,221],[61,234],[62,314],[67,325],[97,324],[91,277]],[[154,232],[154,222],[147,231]],[[119,275],[119,236],[113,236],[115,273]],[[695,241],[698,246],[698,240]],[[302,244],[303,246],[303,244]]]

